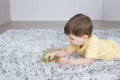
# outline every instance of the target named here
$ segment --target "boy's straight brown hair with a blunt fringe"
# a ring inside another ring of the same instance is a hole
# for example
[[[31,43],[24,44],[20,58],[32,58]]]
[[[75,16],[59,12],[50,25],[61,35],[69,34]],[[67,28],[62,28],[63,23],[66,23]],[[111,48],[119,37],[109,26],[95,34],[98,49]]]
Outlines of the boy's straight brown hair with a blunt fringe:
[[[91,19],[84,14],[76,14],[65,25],[64,33],[75,36],[88,35],[91,36],[93,29],[93,23]]]

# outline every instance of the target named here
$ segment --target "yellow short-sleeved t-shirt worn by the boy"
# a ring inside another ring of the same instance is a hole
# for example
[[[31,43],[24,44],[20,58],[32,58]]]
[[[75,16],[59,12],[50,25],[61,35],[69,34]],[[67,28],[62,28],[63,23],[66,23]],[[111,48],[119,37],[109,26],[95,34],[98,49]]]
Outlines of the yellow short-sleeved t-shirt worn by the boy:
[[[77,51],[85,58],[111,60],[120,58],[120,47],[113,40],[102,40],[92,35],[82,48],[70,46],[67,49],[71,54]]]

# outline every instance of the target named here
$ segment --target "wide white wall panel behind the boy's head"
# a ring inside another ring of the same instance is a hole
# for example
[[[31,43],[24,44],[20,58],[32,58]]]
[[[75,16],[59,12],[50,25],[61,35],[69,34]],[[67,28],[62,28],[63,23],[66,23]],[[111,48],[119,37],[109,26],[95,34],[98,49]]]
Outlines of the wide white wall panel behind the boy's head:
[[[68,20],[85,13],[102,20],[103,0],[11,0],[12,21]]]

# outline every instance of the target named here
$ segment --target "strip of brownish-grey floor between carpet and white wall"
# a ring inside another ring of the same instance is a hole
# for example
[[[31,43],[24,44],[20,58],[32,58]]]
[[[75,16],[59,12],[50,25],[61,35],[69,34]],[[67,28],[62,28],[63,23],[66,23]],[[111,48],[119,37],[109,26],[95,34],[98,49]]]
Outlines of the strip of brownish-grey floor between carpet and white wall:
[[[0,26],[0,34],[9,29],[64,28],[66,21],[15,21]],[[120,21],[93,21],[94,28],[120,28]]]

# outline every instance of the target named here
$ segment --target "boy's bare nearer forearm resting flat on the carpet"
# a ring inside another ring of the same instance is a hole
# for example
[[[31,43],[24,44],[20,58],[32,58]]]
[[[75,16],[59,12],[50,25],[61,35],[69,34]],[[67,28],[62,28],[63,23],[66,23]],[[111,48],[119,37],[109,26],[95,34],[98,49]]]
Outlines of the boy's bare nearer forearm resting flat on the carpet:
[[[93,58],[83,58],[83,59],[67,59],[67,58],[60,58],[59,63],[65,65],[82,65],[82,64],[90,64],[94,61]]]

